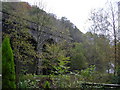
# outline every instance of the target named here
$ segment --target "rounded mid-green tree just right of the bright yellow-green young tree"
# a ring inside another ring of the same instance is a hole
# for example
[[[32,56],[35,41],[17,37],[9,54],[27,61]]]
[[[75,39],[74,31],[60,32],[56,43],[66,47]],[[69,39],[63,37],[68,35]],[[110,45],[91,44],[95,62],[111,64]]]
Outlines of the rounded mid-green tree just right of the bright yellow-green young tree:
[[[85,52],[81,43],[75,43],[71,50],[71,68],[83,69],[87,66]]]

